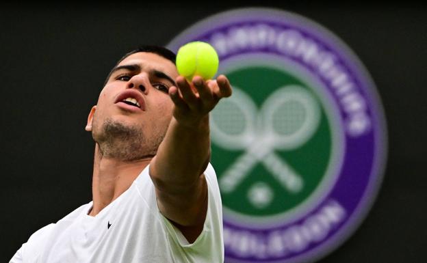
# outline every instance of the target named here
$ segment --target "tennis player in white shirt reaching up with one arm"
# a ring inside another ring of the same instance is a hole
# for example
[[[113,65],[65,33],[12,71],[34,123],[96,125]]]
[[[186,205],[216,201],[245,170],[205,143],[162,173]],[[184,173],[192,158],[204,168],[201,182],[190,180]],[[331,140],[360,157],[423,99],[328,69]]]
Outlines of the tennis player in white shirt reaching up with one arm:
[[[188,83],[174,62],[142,46],[109,72],[86,126],[92,201],[32,234],[10,263],[223,262],[209,111],[231,85]]]

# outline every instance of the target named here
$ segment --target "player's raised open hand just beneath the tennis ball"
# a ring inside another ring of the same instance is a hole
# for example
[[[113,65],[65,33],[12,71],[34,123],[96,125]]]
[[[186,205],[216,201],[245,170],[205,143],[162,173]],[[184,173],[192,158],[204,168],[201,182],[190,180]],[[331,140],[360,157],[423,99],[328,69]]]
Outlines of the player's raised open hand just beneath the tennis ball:
[[[194,76],[192,83],[179,76],[176,81],[178,87],[170,87],[169,95],[175,105],[174,118],[185,126],[198,124],[221,98],[232,93],[229,80],[224,75],[208,81]]]

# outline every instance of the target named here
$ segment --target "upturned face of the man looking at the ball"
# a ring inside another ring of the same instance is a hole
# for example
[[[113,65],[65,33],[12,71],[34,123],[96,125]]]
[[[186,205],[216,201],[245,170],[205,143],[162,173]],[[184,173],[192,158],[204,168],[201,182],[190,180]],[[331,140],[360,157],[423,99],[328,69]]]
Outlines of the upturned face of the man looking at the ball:
[[[172,117],[168,88],[178,76],[172,61],[154,53],[134,53],[113,70],[86,130],[103,154],[131,159],[153,155],[163,140]],[[114,153],[114,151],[119,151]]]

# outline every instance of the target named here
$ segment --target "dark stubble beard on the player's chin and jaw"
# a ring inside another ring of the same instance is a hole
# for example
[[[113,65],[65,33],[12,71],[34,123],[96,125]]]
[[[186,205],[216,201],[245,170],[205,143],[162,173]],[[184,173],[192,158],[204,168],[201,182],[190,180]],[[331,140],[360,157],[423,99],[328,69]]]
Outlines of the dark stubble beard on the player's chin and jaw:
[[[96,129],[94,131],[92,137],[98,143],[103,157],[127,162],[155,156],[166,133],[164,131],[148,137],[142,127],[125,125],[112,119],[105,120],[99,132]]]

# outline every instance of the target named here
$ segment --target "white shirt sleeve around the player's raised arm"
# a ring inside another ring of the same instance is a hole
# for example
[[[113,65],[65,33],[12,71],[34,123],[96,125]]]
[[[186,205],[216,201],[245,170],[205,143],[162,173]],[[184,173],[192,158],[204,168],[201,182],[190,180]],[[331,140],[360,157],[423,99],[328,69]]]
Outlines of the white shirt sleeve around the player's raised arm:
[[[205,170],[208,189],[208,208],[203,230],[194,243],[189,243],[181,231],[161,215],[171,236],[171,246],[181,250],[188,262],[224,262],[224,241],[222,234],[222,202],[216,173],[211,163]],[[159,212],[159,214],[161,214]]]

